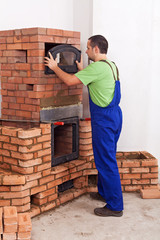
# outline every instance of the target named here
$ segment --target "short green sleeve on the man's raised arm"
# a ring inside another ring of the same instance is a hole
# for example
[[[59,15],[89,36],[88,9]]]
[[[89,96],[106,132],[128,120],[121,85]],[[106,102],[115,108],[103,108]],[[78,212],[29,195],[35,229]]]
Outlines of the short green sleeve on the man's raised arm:
[[[94,82],[97,80],[97,74],[96,71],[93,67],[94,63],[91,63],[88,65],[86,68],[83,70],[79,71],[78,73],[75,74],[77,78],[86,86],[90,84],[91,82]]]

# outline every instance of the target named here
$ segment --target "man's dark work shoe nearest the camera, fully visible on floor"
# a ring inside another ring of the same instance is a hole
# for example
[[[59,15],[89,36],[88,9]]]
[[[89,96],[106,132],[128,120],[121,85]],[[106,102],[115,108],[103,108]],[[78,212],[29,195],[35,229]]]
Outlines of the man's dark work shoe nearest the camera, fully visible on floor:
[[[95,208],[94,213],[101,217],[121,217],[123,215],[123,211],[112,211],[106,206]]]

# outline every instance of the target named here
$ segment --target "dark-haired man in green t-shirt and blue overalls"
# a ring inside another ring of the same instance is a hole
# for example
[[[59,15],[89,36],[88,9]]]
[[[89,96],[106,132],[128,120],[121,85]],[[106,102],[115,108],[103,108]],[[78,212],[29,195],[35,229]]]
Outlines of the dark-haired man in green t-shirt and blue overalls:
[[[94,209],[98,216],[123,215],[123,196],[116,161],[117,141],[122,127],[120,82],[116,65],[107,59],[108,42],[101,35],[88,39],[86,54],[93,61],[83,69],[83,63],[76,62],[79,72],[71,75],[57,66],[57,61],[45,57],[45,65],[68,86],[83,83],[89,89],[92,125],[92,145],[98,170],[98,193],[94,199],[106,202],[102,208]]]

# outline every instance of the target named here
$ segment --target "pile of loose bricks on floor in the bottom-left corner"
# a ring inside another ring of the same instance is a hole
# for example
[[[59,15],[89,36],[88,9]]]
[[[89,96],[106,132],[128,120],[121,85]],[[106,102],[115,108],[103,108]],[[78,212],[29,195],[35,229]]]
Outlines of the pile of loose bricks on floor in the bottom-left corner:
[[[17,213],[17,208],[0,208],[0,240],[31,239],[31,217],[29,213]]]

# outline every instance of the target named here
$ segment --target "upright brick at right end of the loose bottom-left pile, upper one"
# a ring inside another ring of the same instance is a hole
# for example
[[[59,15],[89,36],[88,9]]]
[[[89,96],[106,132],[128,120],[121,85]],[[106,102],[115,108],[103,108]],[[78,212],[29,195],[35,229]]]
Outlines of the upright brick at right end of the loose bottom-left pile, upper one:
[[[18,214],[18,232],[30,232],[32,230],[31,217],[29,213]]]

